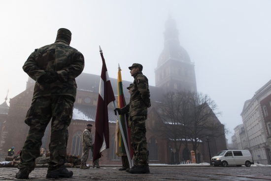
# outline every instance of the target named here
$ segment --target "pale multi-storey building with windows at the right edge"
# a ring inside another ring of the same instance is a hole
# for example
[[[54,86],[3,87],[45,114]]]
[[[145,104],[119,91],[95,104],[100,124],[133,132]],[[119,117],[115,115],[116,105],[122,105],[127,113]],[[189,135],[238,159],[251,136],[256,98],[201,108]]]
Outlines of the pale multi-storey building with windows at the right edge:
[[[270,81],[271,82],[271,81]],[[267,83],[267,84],[270,84]],[[247,146],[250,150],[254,162],[261,164],[271,164],[270,148],[267,140],[267,124],[264,117],[268,114],[268,106],[265,101],[271,94],[267,91],[268,85],[259,89],[252,99],[245,101],[241,112],[244,131],[247,135]],[[262,105],[261,105],[262,101]],[[267,114],[265,114],[267,113]]]

